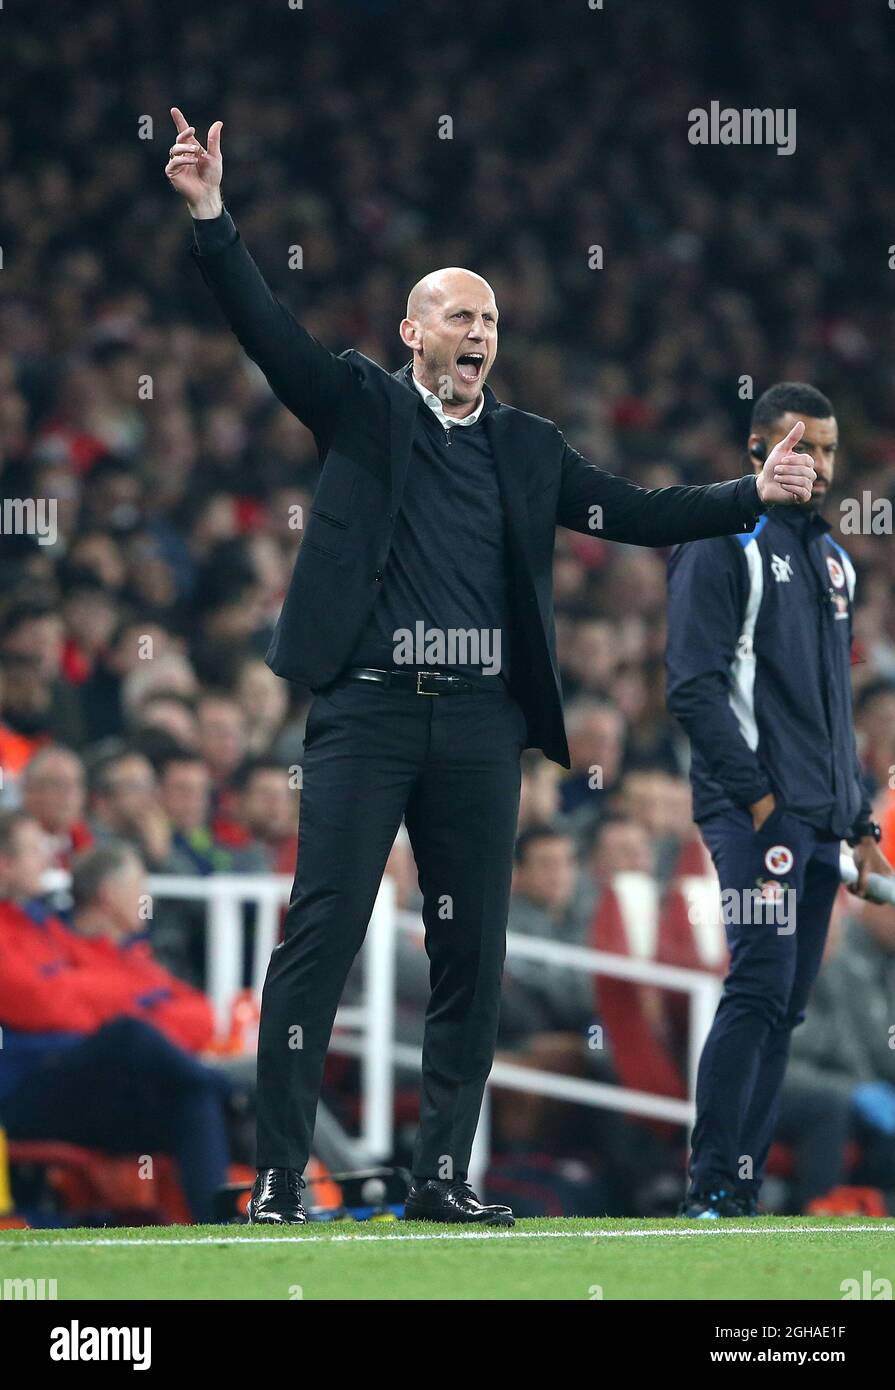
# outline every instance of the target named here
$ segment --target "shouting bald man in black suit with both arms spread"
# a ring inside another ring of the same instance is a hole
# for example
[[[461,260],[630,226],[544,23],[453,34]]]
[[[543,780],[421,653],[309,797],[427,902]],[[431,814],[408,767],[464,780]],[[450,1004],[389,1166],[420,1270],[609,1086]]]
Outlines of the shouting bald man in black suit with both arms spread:
[[[320,484],[268,664],[314,692],[300,855],[258,1041],[253,1222],[303,1222],[302,1173],[335,1012],[402,817],[424,895],[431,999],[406,1215],[513,1225],[467,1182],[493,1059],[523,748],[568,767],[553,635],[557,525],[668,546],[807,500],[798,430],[756,477],[645,491],[485,385],[498,306],[473,271],[414,285],[389,375],[334,356],[272,296],[221,200],[221,122],[181,111],[165,174],[246,353],[314,434]]]

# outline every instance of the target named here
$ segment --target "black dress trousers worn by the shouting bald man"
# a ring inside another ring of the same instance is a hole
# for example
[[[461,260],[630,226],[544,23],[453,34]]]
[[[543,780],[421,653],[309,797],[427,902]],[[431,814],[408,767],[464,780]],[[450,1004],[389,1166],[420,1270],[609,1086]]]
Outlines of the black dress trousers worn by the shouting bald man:
[[[489,678],[491,680],[491,678]],[[299,865],[258,1038],[258,1168],[303,1170],[336,1008],[402,816],[424,895],[431,998],[413,1172],[466,1179],[493,1061],[525,717],[503,681],[315,696]]]

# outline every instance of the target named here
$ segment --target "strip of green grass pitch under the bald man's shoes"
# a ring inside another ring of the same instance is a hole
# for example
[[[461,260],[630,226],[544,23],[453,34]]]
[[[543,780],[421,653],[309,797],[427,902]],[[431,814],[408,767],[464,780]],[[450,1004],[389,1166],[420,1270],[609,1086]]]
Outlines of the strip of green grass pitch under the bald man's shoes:
[[[845,1280],[895,1286],[894,1234],[892,1220],[775,1216],[520,1220],[491,1233],[417,1222],[6,1230],[0,1289],[56,1279],[60,1300],[841,1300],[856,1287]]]

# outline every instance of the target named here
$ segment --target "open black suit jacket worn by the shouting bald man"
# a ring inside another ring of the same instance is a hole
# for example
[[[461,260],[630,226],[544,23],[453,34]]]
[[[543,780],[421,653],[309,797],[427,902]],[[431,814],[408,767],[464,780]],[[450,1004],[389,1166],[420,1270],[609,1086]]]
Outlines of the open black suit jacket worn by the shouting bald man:
[[[279,400],[314,434],[322,473],[267,662],[320,689],[350,660],[377,598],[410,461],[417,410],[410,366],[391,375],[349,349],[335,356],[274,297],[242,239],[197,254],[206,284]],[[670,546],[750,531],[753,477],[700,488],[638,488],[571,449],[550,420],[496,400],[485,428],[506,514],[513,692],[528,744],[568,767],[553,621],[557,525],[631,545]]]

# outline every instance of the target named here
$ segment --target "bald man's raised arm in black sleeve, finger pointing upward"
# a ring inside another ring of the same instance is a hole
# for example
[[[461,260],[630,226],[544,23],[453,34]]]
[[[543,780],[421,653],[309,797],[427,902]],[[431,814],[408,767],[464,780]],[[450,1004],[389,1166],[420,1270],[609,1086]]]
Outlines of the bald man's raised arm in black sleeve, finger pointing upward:
[[[274,393],[325,448],[339,411],[350,404],[354,374],[279,303],[243,246],[221,197],[222,122],[211,125],[203,146],[182,111],[172,107],[171,115],[176,138],[165,174],[193,218],[193,254],[203,279]]]

